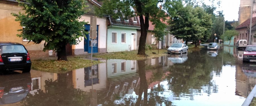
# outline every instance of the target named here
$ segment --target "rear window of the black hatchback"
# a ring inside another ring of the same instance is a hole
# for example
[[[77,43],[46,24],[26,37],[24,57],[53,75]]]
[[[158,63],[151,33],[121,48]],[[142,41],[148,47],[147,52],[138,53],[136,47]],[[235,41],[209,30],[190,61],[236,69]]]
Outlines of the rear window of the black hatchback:
[[[0,54],[3,53],[27,53],[22,45],[3,45],[0,47]]]

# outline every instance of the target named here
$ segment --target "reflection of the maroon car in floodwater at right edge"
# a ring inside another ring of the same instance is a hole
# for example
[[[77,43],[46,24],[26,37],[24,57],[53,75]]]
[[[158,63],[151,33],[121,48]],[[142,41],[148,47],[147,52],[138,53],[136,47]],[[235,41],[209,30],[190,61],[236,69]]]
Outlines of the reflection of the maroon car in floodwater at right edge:
[[[242,70],[247,77],[256,77],[256,64],[243,63]]]

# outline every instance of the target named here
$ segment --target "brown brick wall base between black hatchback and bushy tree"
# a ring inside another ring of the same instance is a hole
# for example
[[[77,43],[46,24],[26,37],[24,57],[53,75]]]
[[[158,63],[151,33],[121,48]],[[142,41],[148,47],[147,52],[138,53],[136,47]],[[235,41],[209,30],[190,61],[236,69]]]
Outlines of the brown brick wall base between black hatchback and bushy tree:
[[[37,58],[37,57],[55,57],[55,51],[53,51],[52,56],[49,56],[49,51],[46,50],[45,52],[42,50],[29,50],[28,51],[29,56],[31,58]]]

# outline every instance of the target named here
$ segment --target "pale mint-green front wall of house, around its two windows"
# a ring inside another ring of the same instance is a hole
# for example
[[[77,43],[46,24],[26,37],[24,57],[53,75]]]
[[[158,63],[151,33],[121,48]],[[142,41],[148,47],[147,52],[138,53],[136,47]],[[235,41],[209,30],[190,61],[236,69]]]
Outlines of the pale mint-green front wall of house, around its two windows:
[[[112,44],[112,32],[117,33],[117,44]],[[126,43],[123,43],[123,44],[121,43],[121,33],[126,33]],[[131,45],[132,33],[136,33],[136,36],[137,36],[137,28],[121,27],[121,26],[114,26],[114,25],[108,28],[107,52],[128,51],[129,45]],[[134,36],[134,38],[136,38],[136,36]]]

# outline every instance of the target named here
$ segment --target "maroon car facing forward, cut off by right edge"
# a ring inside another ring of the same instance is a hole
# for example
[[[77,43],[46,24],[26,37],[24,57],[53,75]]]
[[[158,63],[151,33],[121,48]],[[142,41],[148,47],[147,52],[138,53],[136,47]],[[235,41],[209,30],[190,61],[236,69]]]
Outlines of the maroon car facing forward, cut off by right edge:
[[[256,62],[256,45],[249,45],[245,48],[243,62]]]

